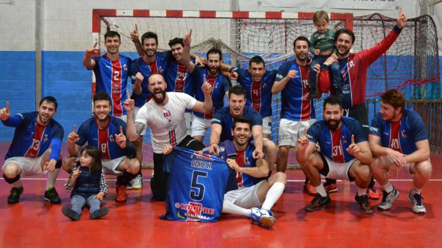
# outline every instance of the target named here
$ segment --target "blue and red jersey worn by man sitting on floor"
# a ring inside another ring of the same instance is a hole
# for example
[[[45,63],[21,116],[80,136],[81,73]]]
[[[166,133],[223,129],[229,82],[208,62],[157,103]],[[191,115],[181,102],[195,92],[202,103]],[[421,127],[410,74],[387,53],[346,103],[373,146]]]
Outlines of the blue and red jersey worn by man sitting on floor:
[[[253,151],[255,146],[248,144],[246,149],[243,151],[235,150],[235,154],[228,154],[228,147],[234,147],[233,142],[230,140],[223,141],[219,143],[219,156],[221,158],[229,158],[229,155],[234,155],[235,161],[240,167],[256,167],[256,160],[253,158]],[[235,147],[234,147],[235,149]],[[250,187],[256,184],[257,178],[248,175],[246,173],[236,172],[236,182],[240,187]]]

